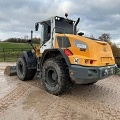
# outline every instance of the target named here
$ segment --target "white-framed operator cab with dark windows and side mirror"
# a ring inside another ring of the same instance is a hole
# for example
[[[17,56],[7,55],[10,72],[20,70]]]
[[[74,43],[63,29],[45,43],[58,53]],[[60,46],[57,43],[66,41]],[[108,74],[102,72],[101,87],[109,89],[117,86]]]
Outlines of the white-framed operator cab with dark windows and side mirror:
[[[35,24],[35,30],[38,31],[39,24],[41,24],[41,48],[40,53],[43,53],[45,49],[53,48],[55,41],[55,34],[76,34],[77,22],[63,17],[54,16],[50,19],[37,22]]]

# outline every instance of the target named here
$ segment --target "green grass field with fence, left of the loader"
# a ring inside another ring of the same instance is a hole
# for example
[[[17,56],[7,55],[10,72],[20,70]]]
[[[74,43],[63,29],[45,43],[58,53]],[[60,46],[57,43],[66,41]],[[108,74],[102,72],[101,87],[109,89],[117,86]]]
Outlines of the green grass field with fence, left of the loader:
[[[16,61],[22,51],[31,49],[28,43],[0,42],[0,62]]]

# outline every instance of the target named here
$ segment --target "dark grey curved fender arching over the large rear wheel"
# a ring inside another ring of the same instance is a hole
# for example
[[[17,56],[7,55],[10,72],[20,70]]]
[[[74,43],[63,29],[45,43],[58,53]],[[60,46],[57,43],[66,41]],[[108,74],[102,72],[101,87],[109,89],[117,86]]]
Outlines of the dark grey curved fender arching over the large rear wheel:
[[[68,65],[68,67],[70,67],[70,61],[69,61],[68,56],[64,53],[64,51],[62,49],[58,48],[58,49],[46,49],[43,52],[42,57],[40,59],[40,68],[42,68],[43,63],[45,62],[45,60],[49,58],[49,55],[52,56],[53,54],[61,54],[62,57],[65,59],[65,62]]]

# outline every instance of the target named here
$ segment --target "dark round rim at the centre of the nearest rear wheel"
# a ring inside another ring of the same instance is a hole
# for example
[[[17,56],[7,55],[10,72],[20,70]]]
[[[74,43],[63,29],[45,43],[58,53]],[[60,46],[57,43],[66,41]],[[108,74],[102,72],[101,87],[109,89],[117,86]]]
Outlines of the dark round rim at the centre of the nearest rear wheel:
[[[58,83],[58,75],[57,72],[54,68],[50,67],[49,69],[47,69],[46,71],[46,82],[47,84],[49,84],[50,86],[56,86],[56,84]]]

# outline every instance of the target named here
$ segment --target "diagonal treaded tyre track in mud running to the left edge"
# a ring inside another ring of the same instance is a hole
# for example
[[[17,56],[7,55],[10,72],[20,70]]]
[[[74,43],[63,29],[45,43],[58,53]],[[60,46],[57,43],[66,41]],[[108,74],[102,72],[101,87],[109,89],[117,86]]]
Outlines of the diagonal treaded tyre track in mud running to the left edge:
[[[0,99],[0,114],[4,113],[5,110],[7,110],[10,105],[14,104],[18,98],[20,98],[28,89],[30,89],[30,87],[31,86],[25,83],[20,83],[17,85],[17,88]]]

